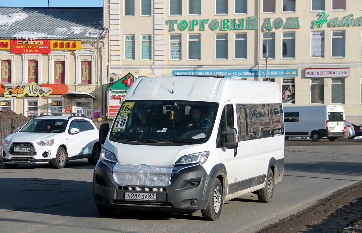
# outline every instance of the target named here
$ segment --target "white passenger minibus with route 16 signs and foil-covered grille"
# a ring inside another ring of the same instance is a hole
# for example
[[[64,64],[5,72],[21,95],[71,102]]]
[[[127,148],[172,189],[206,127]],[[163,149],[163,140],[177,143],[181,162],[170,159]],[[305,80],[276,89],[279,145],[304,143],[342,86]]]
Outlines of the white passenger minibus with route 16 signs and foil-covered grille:
[[[139,77],[93,174],[98,212],[193,212],[216,220],[222,204],[257,194],[270,202],[284,169],[284,120],[274,82]]]

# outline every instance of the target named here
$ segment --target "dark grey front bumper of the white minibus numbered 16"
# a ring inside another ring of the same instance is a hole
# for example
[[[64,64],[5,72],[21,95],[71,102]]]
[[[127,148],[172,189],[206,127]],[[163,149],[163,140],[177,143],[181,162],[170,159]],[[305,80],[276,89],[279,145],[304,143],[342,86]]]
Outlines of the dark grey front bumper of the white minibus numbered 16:
[[[108,162],[100,161],[94,169],[93,197],[99,205],[118,209],[192,212],[197,209],[205,209],[209,201],[213,178],[201,165],[178,170],[173,175],[171,184],[166,187],[120,186],[113,180],[112,166]],[[156,202],[126,201],[125,192],[152,192],[157,195]]]

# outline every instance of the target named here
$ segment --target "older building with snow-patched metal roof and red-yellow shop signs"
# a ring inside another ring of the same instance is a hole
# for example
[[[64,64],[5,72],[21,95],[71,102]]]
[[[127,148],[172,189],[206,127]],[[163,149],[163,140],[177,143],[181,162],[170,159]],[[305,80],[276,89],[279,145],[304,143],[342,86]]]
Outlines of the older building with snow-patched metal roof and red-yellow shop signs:
[[[29,118],[97,118],[105,103],[107,36],[102,7],[0,7],[0,109]]]

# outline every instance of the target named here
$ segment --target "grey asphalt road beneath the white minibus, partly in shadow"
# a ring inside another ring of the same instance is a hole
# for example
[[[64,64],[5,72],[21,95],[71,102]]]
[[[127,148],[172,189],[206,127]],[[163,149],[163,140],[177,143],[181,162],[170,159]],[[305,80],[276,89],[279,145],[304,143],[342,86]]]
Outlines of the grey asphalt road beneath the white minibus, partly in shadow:
[[[6,169],[0,164],[0,232],[255,232],[362,180],[362,140],[285,143],[284,176],[273,201],[233,199],[223,205],[217,221],[204,221],[201,211],[117,211],[102,217],[92,197],[93,166],[87,160],[67,162],[64,169]]]

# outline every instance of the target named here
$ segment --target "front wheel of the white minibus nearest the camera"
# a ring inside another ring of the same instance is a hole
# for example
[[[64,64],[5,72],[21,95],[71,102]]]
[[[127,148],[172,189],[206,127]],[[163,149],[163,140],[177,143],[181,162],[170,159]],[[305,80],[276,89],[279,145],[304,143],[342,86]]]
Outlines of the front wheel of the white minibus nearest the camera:
[[[214,221],[220,217],[223,204],[223,188],[220,180],[215,177],[212,181],[209,203],[206,209],[202,209],[202,217],[205,220]]]

